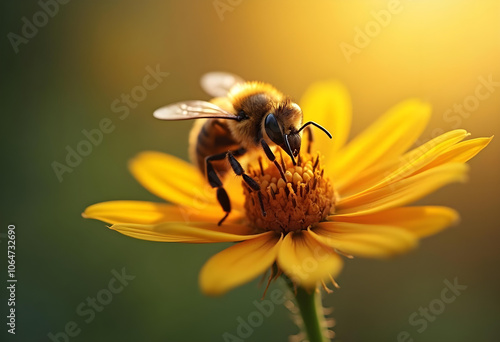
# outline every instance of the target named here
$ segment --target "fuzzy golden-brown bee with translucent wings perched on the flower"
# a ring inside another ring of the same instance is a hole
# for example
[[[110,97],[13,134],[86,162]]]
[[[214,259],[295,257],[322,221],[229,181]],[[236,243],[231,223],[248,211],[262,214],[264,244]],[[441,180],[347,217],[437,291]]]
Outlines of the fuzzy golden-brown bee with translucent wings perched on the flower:
[[[268,83],[245,82],[230,73],[210,72],[201,78],[201,86],[214,97],[210,102],[178,102],[157,109],[153,115],[160,120],[201,119],[191,130],[189,152],[210,186],[217,189],[217,200],[225,212],[218,225],[231,212],[231,202],[220,178],[230,169],[251,190],[259,192],[262,215],[266,216],[259,184],[245,173],[236,157],[263,149],[285,178],[273,149],[281,148],[296,165],[302,130],[308,128],[310,139],[310,125],[330,139],[332,136],[315,122],[302,124],[301,108]]]

